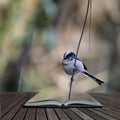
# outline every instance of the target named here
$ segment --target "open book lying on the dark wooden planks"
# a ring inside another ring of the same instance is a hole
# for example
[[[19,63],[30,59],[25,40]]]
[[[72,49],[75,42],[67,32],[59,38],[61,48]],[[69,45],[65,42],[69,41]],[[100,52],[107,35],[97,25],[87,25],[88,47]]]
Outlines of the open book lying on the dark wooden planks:
[[[59,98],[40,98],[40,94],[35,95],[32,99],[27,101],[25,107],[102,107],[98,102],[89,94],[80,94],[71,100],[65,100],[65,97]]]

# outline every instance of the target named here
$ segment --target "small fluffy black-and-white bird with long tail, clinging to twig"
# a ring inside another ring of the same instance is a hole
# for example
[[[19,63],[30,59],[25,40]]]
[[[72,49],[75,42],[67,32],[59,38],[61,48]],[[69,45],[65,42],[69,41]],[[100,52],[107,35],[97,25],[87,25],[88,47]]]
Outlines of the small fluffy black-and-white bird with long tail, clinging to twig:
[[[75,60],[76,60],[76,64],[75,64]],[[74,75],[82,73],[95,80],[99,85],[102,85],[104,83],[102,80],[90,74],[87,71],[86,65],[79,58],[76,57],[75,53],[71,51],[67,51],[64,53],[62,60],[62,67],[64,71],[69,75],[73,75],[73,71],[74,71]]]

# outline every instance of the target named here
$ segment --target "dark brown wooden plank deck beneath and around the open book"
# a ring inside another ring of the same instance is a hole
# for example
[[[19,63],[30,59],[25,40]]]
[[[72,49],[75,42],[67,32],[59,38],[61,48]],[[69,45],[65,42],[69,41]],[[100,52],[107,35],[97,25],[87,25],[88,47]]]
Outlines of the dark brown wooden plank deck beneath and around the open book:
[[[120,120],[120,94],[92,94],[103,108],[23,108],[35,93],[0,93],[1,120]]]

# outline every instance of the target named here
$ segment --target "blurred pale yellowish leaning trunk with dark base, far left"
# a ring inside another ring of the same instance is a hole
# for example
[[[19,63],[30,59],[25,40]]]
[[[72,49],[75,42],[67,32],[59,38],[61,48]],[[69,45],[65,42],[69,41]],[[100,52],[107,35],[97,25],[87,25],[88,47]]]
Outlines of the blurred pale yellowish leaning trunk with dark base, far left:
[[[0,82],[2,83],[2,91],[18,91],[20,90],[23,66],[32,44],[34,26],[31,20],[38,1],[9,2],[12,7],[9,8],[9,4],[6,6],[6,11],[9,10],[9,14],[3,20],[9,27],[4,31],[2,40],[1,54],[5,57],[0,59],[0,76],[2,76]],[[19,51],[20,54],[18,54]]]

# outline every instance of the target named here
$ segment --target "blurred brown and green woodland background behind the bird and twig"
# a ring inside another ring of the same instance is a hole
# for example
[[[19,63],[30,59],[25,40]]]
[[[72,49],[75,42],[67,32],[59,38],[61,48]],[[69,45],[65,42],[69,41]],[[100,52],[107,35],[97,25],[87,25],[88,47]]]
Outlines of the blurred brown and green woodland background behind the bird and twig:
[[[0,90],[67,95],[65,51],[76,52],[87,0],[0,0]],[[92,0],[79,58],[103,79],[75,77],[73,93],[120,92],[120,0]]]

